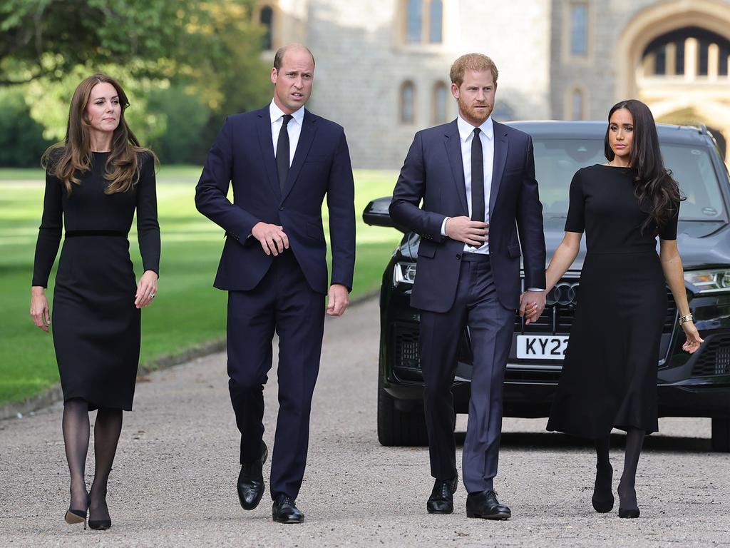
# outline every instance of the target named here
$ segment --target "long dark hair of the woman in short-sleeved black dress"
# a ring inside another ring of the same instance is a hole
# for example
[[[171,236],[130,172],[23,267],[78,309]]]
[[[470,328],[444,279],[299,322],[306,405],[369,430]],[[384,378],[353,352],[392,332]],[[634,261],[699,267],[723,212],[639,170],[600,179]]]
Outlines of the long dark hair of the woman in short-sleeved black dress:
[[[659,149],[659,137],[651,110],[637,99],[629,99],[614,104],[608,113],[609,126],[604,138],[604,153],[608,161],[615,157],[609,142],[611,116],[625,108],[634,118],[634,140],[629,152],[629,167],[636,170],[634,194],[639,199],[639,207],[649,214],[641,226],[642,232],[652,222],[664,226],[677,213],[680,202],[685,199],[680,193],[672,172],[664,167]]]

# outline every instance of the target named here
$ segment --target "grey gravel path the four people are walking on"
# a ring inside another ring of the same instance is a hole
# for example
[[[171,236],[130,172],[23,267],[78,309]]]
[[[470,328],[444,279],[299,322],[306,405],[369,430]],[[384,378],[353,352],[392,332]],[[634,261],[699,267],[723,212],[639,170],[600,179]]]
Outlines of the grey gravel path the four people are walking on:
[[[661,419],[661,434],[648,439],[639,463],[639,520],[593,512],[592,450],[545,433],[545,419],[504,420],[496,489],[512,507],[512,520],[467,519],[463,485],[454,514],[429,516],[427,450],[377,443],[378,330],[374,300],[326,323],[298,500],[304,525],[272,523],[268,491],[255,511],[239,507],[239,435],[226,356],[213,354],[137,385],[110,479],[108,531],[84,531],[62,520],[69,495],[61,405],[0,422],[0,546],[730,545],[730,460],[710,452],[709,419]],[[274,371],[265,391],[269,446]],[[459,416],[457,430],[465,427],[466,417]],[[619,472],[622,443],[616,435],[612,462]],[[89,479],[91,473],[90,457]]]

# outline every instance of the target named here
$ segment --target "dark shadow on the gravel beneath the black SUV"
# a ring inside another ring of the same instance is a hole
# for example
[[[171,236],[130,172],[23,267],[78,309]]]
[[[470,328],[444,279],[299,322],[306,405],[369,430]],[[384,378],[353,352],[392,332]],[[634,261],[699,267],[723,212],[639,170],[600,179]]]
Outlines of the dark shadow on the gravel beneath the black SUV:
[[[456,444],[464,445],[465,433],[456,433]],[[611,435],[611,446],[621,448],[626,445],[626,436],[623,434]],[[574,438],[570,435],[557,433],[525,433],[503,432],[502,448],[504,449],[585,449],[593,448],[591,441]],[[657,452],[694,452],[707,453],[710,447],[710,438],[680,438],[662,435],[650,435],[644,442],[644,449]]]

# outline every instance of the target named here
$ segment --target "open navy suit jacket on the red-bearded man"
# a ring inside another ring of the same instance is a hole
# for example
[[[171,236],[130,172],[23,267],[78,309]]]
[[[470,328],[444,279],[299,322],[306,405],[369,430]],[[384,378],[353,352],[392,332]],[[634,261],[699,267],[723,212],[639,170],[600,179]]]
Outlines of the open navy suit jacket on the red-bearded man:
[[[422,199],[423,208],[419,208]],[[448,311],[456,296],[464,243],[442,236],[441,225],[445,217],[469,216],[456,120],[415,134],[393,191],[390,213],[396,224],[421,236],[411,305],[426,311]],[[497,122],[488,240],[499,302],[516,309],[520,248],[525,286],[545,287],[542,204],[530,136]]]

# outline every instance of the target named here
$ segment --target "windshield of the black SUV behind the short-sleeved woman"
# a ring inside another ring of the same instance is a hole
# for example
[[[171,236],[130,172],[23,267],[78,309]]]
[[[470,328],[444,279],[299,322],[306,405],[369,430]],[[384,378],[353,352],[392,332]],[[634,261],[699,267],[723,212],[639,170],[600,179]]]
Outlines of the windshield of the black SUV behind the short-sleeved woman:
[[[602,139],[534,140],[535,174],[540,200],[548,217],[564,217],[568,189],[581,167],[605,164]],[[707,149],[691,145],[661,145],[664,164],[687,199],[680,205],[681,221],[724,221],[725,204]]]

